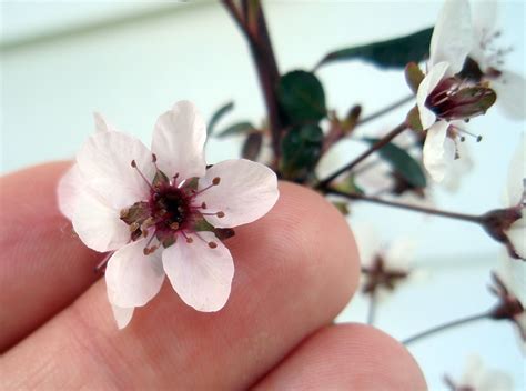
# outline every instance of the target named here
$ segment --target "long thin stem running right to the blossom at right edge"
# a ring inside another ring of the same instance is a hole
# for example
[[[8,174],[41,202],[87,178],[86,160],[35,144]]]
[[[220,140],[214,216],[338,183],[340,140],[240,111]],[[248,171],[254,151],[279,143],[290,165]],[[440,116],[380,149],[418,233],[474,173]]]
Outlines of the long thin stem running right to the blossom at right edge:
[[[439,210],[439,209],[433,209],[433,208],[426,208],[426,207],[419,207],[419,205],[412,205],[412,204],[407,204],[407,203],[384,200],[384,199],[381,199],[378,197],[340,191],[340,190],[332,189],[332,188],[326,188],[326,189],[324,189],[324,191],[325,191],[325,193],[342,196],[342,197],[345,197],[350,200],[367,201],[367,202],[377,203],[377,204],[382,204],[382,205],[386,205],[386,207],[405,209],[405,210],[409,210],[409,211],[413,211],[413,212],[421,212],[421,213],[425,213],[425,214],[439,215],[439,217],[448,218],[448,219],[475,222],[477,224],[482,223],[482,217],[476,215],[476,214],[456,213],[456,212],[448,212],[448,211]]]

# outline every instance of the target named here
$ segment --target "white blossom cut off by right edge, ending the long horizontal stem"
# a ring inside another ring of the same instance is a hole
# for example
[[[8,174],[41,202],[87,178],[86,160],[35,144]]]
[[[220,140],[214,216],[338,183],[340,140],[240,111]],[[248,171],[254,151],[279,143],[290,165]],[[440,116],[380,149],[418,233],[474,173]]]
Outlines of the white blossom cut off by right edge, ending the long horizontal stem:
[[[520,138],[509,164],[504,189],[504,209],[483,215],[483,227],[504,243],[512,258],[526,260],[526,137]]]

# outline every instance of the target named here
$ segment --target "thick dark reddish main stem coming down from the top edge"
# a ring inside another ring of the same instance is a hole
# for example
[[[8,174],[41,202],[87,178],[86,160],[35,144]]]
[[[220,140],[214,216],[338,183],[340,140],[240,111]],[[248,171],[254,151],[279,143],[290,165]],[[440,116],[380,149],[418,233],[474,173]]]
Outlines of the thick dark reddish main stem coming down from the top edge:
[[[275,86],[280,80],[280,72],[277,70],[277,63],[272,49],[272,42],[266,28],[263,9],[261,3],[256,4],[256,26],[255,29],[251,29],[246,23],[249,13],[247,7],[250,7],[250,4],[243,1],[244,14],[242,14],[232,0],[222,0],[222,2],[237,23],[249,43],[269,114],[274,158],[277,159],[281,150],[281,132],[283,129],[283,120],[281,118],[275,93]]]

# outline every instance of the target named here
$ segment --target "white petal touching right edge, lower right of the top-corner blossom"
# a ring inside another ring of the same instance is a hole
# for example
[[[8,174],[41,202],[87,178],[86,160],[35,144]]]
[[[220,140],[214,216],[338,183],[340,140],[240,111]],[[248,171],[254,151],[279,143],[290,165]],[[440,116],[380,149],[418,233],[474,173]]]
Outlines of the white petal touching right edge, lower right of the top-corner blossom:
[[[502,71],[490,87],[497,93],[498,107],[506,117],[523,121],[526,118],[526,80],[518,73]]]

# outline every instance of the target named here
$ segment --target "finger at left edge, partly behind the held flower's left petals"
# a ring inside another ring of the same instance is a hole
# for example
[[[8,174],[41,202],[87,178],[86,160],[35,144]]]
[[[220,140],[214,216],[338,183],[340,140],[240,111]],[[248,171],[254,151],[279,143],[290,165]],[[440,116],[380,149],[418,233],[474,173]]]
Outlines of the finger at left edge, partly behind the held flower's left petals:
[[[0,352],[91,285],[100,254],[87,249],[57,207],[57,183],[71,163],[0,178]]]

